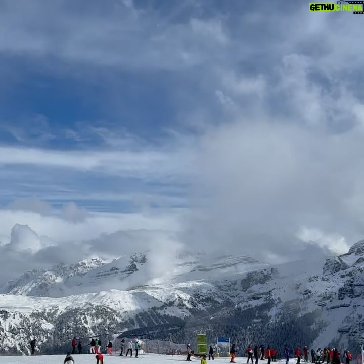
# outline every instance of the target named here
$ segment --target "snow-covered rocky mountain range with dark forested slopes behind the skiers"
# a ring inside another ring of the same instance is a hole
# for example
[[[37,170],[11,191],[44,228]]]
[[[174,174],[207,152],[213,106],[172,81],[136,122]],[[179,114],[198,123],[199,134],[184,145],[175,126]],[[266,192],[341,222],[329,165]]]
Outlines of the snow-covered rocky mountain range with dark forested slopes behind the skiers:
[[[27,352],[31,335],[55,350],[73,335],[176,325],[176,341],[197,330],[241,345],[300,340],[354,349],[364,340],[364,241],[338,257],[276,265],[203,253],[155,265],[144,252],[27,272],[0,295],[0,350]]]

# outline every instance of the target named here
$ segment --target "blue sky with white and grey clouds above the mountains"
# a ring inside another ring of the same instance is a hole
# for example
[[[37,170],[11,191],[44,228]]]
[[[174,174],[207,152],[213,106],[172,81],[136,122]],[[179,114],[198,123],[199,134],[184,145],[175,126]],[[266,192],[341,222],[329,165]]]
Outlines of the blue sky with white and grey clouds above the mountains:
[[[301,0],[0,0],[9,277],[155,246],[347,251],[364,236],[363,21]]]

